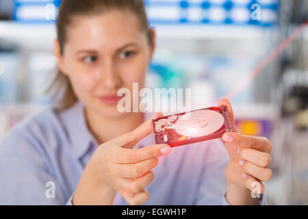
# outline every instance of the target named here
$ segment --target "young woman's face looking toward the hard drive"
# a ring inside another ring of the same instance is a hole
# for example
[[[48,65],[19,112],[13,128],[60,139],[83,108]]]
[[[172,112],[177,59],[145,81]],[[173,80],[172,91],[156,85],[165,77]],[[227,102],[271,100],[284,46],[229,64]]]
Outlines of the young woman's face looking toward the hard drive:
[[[102,116],[123,116],[117,110],[117,92],[128,88],[132,99],[133,83],[144,87],[154,51],[137,16],[123,11],[80,16],[66,31],[64,54],[57,57],[77,98]]]

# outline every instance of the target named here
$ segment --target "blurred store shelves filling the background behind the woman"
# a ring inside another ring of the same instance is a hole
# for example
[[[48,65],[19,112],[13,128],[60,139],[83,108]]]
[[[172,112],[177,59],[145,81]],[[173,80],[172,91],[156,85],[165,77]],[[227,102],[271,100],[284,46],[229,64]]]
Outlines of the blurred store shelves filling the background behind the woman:
[[[53,103],[44,90],[55,75],[60,3],[0,0],[0,141]],[[307,205],[308,1],[145,3],[157,30],[148,86],[192,88],[194,109],[229,97],[238,130],[272,141],[268,204]]]

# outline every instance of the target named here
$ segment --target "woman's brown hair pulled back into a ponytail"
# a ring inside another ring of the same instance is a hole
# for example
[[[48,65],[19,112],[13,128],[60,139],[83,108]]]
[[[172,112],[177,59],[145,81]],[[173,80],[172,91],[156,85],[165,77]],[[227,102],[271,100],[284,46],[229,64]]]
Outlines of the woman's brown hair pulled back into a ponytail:
[[[89,16],[110,10],[129,10],[136,14],[142,31],[146,32],[149,43],[153,44],[143,0],[62,0],[57,17],[57,40],[60,44],[60,53],[62,55],[64,53],[64,44],[67,40],[66,27],[70,25],[73,17]],[[78,101],[68,76],[61,73],[60,70],[57,71],[47,92],[56,101],[57,110],[65,110]]]

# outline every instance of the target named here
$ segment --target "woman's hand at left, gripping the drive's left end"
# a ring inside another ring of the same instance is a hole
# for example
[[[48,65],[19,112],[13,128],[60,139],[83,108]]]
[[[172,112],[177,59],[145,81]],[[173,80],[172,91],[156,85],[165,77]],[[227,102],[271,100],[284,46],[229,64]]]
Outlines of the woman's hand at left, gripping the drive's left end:
[[[149,199],[146,188],[154,179],[151,171],[160,155],[170,153],[167,144],[154,144],[133,150],[152,131],[155,114],[137,129],[105,142],[94,152],[73,195],[74,205],[112,205],[116,191],[130,205],[140,205]]]

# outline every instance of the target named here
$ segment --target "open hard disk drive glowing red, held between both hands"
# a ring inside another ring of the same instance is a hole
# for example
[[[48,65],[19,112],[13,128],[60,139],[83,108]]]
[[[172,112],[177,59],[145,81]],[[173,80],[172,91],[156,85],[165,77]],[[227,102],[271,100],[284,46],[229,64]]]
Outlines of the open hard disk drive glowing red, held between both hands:
[[[163,116],[153,120],[156,144],[171,147],[220,138],[233,131],[226,106]]]

